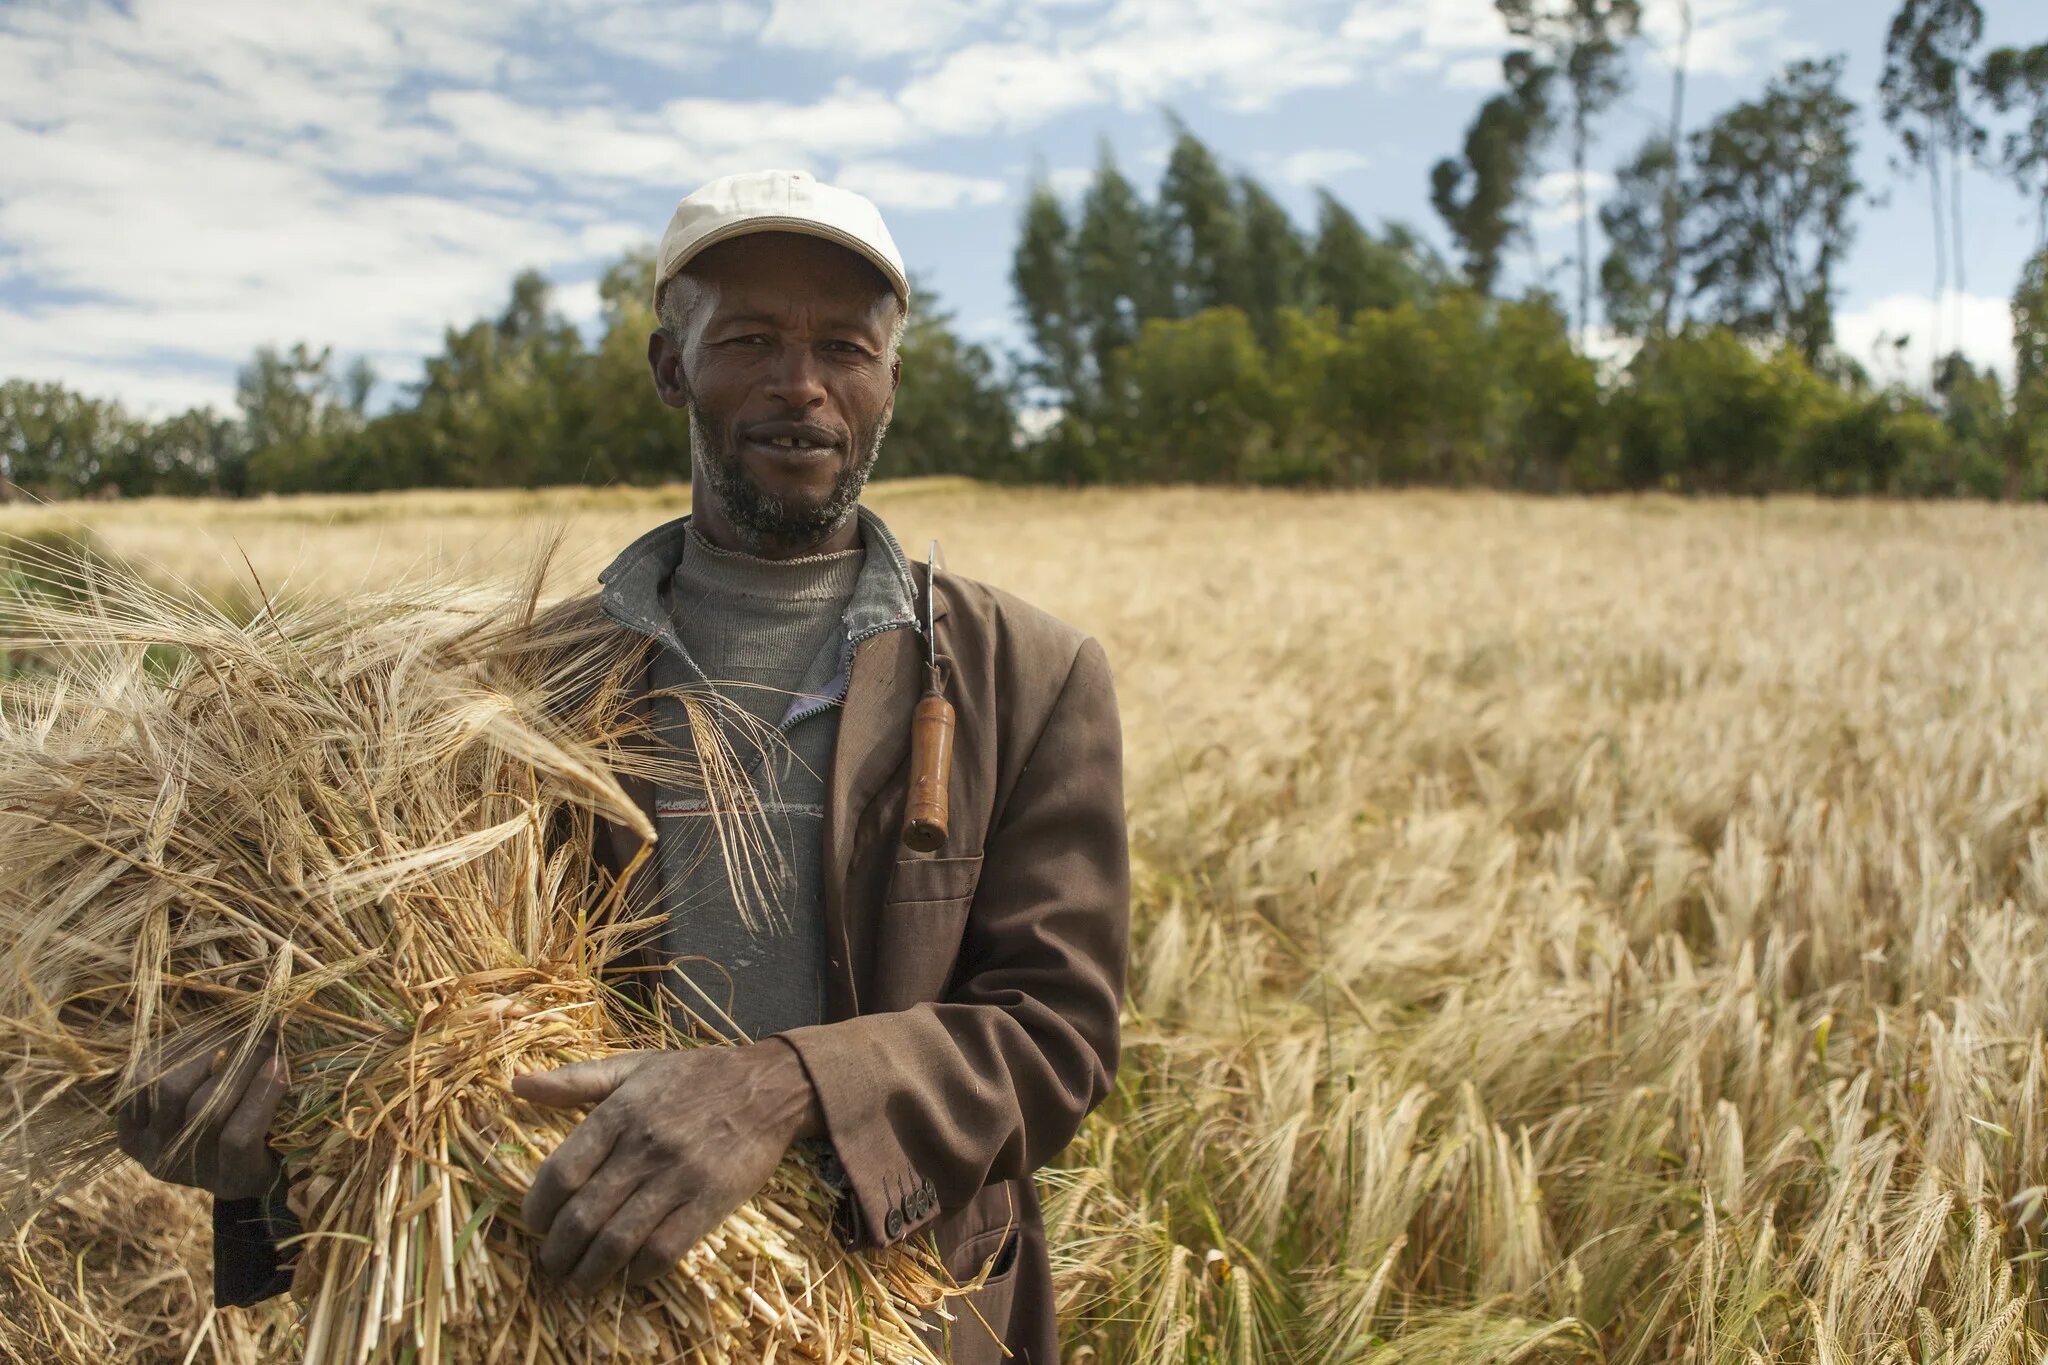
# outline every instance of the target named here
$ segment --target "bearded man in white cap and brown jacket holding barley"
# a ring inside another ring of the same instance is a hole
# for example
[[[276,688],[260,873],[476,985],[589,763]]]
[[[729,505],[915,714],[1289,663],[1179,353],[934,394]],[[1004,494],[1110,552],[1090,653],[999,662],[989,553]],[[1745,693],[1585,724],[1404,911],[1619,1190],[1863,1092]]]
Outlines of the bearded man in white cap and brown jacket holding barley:
[[[522,1076],[588,1109],[526,1197],[541,1267],[573,1289],[674,1265],[815,1142],[856,1246],[930,1234],[961,1279],[934,1340],[954,1361],[1055,1365],[1032,1173],[1116,1070],[1128,921],[1122,757],[1100,645],[938,573],[940,681],[958,729],[942,847],[903,845],[926,583],[860,491],[899,381],[909,284],[881,213],[801,172],[715,180],[678,205],[647,360],[690,420],[692,516],[655,528],[588,606],[645,641],[649,718],[688,741],[678,684],[715,688],[776,860],[705,857],[702,792],[637,790],[653,819],[662,950],[692,1021],[731,1048]],[[608,831],[616,870],[633,837]],[[184,1115],[229,1093],[197,1142]],[[285,1287],[281,1171],[264,1144],[285,1062],[168,1070],[123,1113],[154,1173],[215,1193],[215,1297]],[[715,1097],[715,1103],[698,1103]],[[166,1152],[176,1150],[176,1158]],[[987,1326],[983,1326],[983,1322]]]

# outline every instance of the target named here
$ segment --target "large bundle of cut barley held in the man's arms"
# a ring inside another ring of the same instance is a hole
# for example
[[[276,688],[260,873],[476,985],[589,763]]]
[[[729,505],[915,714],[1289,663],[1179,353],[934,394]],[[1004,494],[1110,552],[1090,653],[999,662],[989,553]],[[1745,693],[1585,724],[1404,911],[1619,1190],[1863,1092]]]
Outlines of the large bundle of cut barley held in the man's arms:
[[[649,925],[621,923],[596,821],[651,839],[614,774],[659,776],[627,743],[616,632],[537,610],[537,583],[238,624],[88,577],[18,596],[12,634],[61,667],[0,692],[18,1199],[111,1160],[109,1113],[166,1040],[231,1027],[221,1064],[276,1040],[293,1074],[272,1142],[305,1177],[307,1361],[932,1359],[911,1320],[938,1277],[840,1250],[795,1156],[651,1285],[573,1297],[535,1273],[518,1205],[573,1115],[510,1076],[684,1042],[600,978]],[[682,700],[715,733],[711,700]]]

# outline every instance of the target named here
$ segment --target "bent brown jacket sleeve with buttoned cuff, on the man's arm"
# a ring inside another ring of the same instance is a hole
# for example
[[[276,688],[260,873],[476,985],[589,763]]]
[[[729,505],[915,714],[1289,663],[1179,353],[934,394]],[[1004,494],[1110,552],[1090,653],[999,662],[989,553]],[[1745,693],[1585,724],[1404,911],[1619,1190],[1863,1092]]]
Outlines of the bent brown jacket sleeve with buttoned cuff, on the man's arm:
[[[1116,1074],[1128,925],[1122,731],[1090,639],[989,831],[946,999],[780,1033],[852,1185],[856,1246],[1067,1146]]]

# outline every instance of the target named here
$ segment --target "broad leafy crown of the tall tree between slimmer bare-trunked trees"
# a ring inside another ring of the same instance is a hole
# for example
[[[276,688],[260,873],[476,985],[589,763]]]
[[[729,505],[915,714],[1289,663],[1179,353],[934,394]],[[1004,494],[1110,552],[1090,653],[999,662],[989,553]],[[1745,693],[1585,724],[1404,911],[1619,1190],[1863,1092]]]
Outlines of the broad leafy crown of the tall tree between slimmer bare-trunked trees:
[[[1694,133],[1696,287],[1710,317],[1790,340],[1808,364],[1835,336],[1835,270],[1855,241],[1855,104],[1841,57],[1796,61],[1757,100]]]

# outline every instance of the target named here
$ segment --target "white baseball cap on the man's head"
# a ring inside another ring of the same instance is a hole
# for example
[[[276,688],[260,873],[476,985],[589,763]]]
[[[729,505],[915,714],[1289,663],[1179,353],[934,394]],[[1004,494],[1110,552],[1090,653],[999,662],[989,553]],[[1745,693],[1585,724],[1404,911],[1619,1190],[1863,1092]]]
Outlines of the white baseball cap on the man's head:
[[[874,201],[836,184],[821,184],[805,170],[745,170],[719,176],[676,205],[655,254],[653,299],[662,287],[707,246],[752,231],[801,231],[860,252],[889,276],[889,287],[909,307],[909,276],[903,256],[883,223]]]

